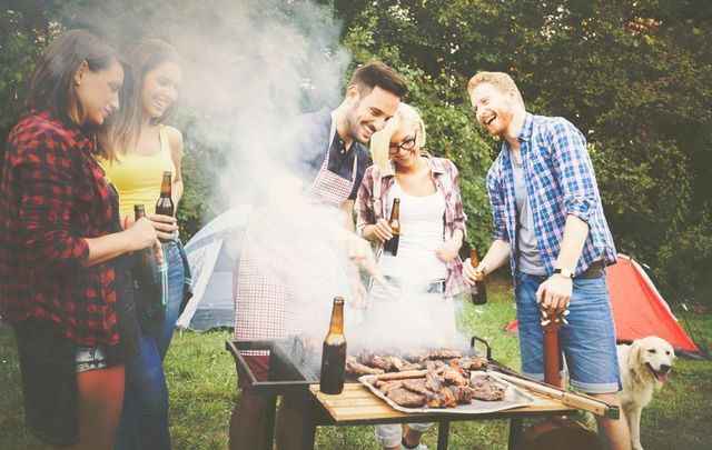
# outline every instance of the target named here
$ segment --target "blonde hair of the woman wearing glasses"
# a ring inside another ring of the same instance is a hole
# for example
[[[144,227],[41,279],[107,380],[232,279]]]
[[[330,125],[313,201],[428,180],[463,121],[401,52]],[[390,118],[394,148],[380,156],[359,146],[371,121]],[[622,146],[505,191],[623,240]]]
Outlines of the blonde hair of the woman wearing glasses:
[[[393,174],[390,156],[388,154],[390,138],[404,126],[415,128],[417,146],[425,147],[425,123],[423,123],[421,114],[412,106],[400,102],[396,113],[386,122],[383,130],[376,131],[370,137],[370,158],[383,174]]]

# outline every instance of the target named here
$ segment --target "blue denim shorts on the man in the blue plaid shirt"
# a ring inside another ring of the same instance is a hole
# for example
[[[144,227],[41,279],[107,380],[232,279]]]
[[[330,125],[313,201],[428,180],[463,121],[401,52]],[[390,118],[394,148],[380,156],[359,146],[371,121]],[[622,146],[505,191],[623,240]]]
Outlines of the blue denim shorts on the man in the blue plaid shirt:
[[[545,279],[518,271],[515,274],[522,372],[536,380],[544,379],[543,330],[536,290]],[[574,279],[568,311],[568,324],[562,324],[558,341],[571,386],[587,393],[617,392],[622,384],[605,274]]]

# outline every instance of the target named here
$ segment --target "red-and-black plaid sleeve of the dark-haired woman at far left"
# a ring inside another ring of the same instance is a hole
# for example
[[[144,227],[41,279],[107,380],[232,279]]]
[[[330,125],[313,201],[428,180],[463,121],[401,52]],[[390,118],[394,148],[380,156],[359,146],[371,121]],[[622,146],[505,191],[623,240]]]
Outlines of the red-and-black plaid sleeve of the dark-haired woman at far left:
[[[17,170],[28,262],[40,272],[80,267],[89,257],[89,244],[70,230],[78,188],[67,143],[51,134],[36,137],[27,142]]]

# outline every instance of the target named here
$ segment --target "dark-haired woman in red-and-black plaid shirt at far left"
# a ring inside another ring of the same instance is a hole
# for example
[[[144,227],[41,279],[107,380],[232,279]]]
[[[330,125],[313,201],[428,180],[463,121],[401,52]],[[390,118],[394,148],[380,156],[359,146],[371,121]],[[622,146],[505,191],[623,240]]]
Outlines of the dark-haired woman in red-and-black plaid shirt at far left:
[[[63,32],[34,68],[4,151],[0,314],[16,332],[27,427],[50,446],[111,447],[123,362],[138,350],[126,258],[157,236],[146,219],[121,229],[92,154],[122,82],[113,49]]]

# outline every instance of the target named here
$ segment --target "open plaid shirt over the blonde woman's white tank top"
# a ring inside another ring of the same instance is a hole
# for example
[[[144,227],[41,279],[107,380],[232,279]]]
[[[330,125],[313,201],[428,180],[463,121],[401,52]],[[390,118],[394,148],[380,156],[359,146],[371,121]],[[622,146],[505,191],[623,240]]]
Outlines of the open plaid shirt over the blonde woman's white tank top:
[[[459,196],[459,177],[457,168],[448,159],[435,158],[423,151],[422,154],[431,164],[431,173],[435,187],[445,197],[445,239],[449,239],[455,230],[462,230],[463,239],[467,233],[465,220],[467,217],[463,211],[463,200]],[[390,161],[395,171],[395,163]],[[356,232],[364,236],[364,228],[367,224],[376,223],[385,217],[388,193],[395,184],[395,174],[383,174],[376,166],[366,169],[364,181],[358,189],[358,199],[354,208],[358,213]],[[383,252],[383,244],[378,246],[376,254],[378,258]],[[463,261],[459,256],[445,264],[447,274],[445,276],[445,296],[452,297],[469,289],[463,278]]]

